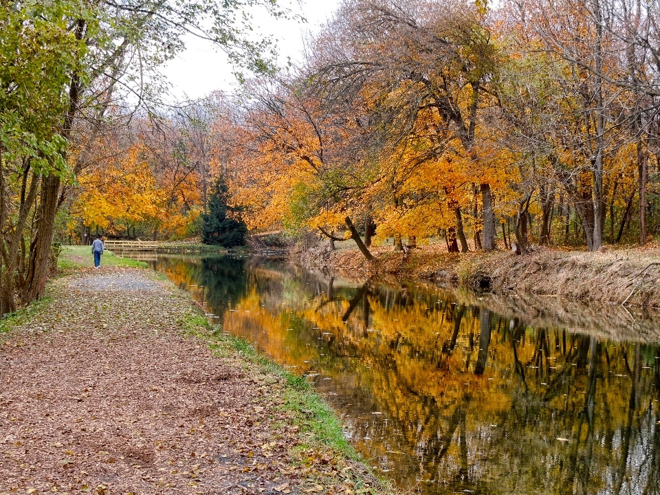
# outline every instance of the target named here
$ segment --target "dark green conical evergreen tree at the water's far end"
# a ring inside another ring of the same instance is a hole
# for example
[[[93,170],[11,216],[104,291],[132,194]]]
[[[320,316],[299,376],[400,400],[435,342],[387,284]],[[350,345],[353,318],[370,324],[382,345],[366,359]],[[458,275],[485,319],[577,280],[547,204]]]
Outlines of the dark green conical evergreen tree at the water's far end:
[[[204,244],[218,244],[223,248],[245,245],[248,227],[240,219],[228,218],[227,214],[238,212],[227,204],[227,184],[220,175],[208,198],[208,212],[201,216],[201,239]]]

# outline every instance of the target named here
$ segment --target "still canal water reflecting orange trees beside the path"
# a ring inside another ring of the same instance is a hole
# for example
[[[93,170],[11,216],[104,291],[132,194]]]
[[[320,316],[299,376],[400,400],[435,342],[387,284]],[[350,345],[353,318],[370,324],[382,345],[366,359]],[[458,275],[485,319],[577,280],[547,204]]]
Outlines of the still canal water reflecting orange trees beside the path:
[[[225,331],[309,377],[403,488],[660,494],[657,314],[265,259],[152,263]]]

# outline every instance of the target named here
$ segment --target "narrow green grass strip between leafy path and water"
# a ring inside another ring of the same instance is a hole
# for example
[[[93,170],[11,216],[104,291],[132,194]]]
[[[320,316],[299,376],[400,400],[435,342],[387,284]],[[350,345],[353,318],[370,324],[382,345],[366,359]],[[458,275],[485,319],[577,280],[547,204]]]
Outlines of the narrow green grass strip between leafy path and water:
[[[187,297],[190,297],[186,293]],[[354,461],[360,455],[344,437],[339,420],[322,397],[314,391],[305,377],[289,373],[283,366],[261,355],[247,340],[224,332],[219,325],[211,325],[200,314],[181,319],[186,334],[201,338],[221,357],[238,355],[246,366],[256,366],[263,375],[276,377],[284,384],[284,407],[293,412],[300,431],[309,434],[311,443],[324,445]]]

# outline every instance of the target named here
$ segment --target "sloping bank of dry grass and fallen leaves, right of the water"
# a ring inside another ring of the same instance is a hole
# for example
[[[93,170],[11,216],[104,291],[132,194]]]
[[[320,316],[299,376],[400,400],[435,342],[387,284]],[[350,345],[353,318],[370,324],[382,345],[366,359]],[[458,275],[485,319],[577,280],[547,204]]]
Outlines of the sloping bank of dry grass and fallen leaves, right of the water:
[[[423,278],[448,284],[489,288],[494,292],[562,296],[589,302],[660,307],[660,247],[604,252],[539,248],[517,256],[511,252],[448,253],[441,245],[426,245],[407,254],[393,248],[372,250],[366,261],[358,249],[343,248],[307,256],[310,266],[347,272],[351,276],[384,274]],[[651,265],[643,276],[641,272]],[[633,291],[633,289],[635,289]]]

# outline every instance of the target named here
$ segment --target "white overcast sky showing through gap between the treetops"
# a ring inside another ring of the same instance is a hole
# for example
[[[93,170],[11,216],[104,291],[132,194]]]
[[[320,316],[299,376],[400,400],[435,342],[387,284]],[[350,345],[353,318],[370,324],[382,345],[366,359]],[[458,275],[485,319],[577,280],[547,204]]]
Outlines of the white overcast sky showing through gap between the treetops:
[[[286,1],[280,1],[287,5]],[[318,33],[322,24],[339,7],[340,0],[300,0],[292,1],[292,11],[302,14],[307,23],[273,19],[267,14],[254,11],[254,30],[265,36],[272,35],[277,40],[279,61],[285,65],[287,56],[295,63],[302,60],[305,40]],[[226,56],[216,50],[211,43],[195,36],[186,39],[186,51],[182,52],[163,69],[175,100],[201,98],[216,89],[232,91],[236,79]]]

